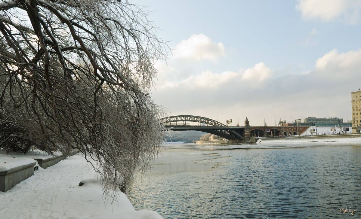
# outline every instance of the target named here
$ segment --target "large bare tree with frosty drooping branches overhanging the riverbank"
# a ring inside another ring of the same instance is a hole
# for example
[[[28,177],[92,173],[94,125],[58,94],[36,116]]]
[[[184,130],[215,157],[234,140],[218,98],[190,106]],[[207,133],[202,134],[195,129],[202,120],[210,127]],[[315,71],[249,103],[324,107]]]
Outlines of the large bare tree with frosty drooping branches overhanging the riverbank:
[[[154,30],[123,0],[0,0],[0,149],[77,149],[105,192],[126,187],[164,137]]]

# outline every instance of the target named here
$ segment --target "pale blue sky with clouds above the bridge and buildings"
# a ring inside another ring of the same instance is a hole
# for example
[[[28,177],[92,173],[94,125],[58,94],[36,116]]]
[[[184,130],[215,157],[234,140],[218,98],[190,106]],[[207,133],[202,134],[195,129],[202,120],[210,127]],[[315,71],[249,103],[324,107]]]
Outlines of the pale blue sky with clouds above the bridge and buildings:
[[[242,126],[303,117],[351,119],[361,88],[361,1],[133,0],[169,59],[151,96],[169,116]]]

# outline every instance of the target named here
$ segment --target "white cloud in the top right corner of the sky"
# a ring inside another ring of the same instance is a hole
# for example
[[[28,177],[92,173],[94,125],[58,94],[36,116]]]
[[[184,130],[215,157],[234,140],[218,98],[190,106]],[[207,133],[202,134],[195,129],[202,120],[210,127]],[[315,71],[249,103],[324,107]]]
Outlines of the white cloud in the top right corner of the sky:
[[[296,9],[305,20],[317,19],[329,22],[342,19],[346,23],[360,21],[361,1],[359,0],[298,0]]]

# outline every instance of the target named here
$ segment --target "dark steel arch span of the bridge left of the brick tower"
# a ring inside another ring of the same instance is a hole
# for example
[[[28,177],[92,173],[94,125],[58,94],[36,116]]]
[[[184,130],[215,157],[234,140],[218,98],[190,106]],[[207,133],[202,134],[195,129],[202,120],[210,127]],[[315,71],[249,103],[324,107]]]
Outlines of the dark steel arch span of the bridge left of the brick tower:
[[[244,127],[227,126],[221,122],[202,116],[169,116],[160,119],[160,122],[164,124],[166,128],[173,131],[196,130],[218,135],[229,140],[244,139]]]

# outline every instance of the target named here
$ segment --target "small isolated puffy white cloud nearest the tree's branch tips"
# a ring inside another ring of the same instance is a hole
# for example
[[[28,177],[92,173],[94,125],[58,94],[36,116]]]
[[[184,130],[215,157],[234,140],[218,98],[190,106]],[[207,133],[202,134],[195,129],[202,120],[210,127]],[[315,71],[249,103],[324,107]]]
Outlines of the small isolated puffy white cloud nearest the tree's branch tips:
[[[210,60],[216,62],[219,57],[225,56],[222,43],[214,43],[203,33],[193,34],[187,40],[182,40],[173,52],[173,59],[189,59],[195,61]]]

